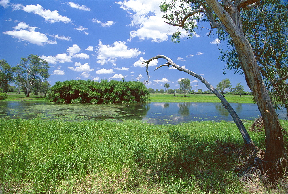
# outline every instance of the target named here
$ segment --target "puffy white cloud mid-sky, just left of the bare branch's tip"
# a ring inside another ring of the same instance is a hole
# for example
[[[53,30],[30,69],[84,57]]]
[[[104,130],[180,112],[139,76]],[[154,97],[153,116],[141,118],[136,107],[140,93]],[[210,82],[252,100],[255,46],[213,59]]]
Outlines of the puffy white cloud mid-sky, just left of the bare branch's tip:
[[[117,58],[132,58],[141,54],[137,48],[129,49],[126,46],[126,42],[116,41],[113,45],[103,45],[99,41],[98,45],[98,56],[97,63],[104,65],[107,62],[111,62],[113,65],[116,65],[115,62]]]

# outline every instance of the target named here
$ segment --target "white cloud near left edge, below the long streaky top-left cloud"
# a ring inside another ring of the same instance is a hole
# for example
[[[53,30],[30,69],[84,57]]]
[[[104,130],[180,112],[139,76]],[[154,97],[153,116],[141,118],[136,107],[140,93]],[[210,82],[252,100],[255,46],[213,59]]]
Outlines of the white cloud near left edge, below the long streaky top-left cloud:
[[[32,44],[43,46],[44,44],[57,44],[57,41],[49,40],[45,34],[35,32],[38,27],[29,26],[25,22],[18,23],[13,31],[6,31],[3,34],[10,35],[13,38],[18,38],[20,41],[28,41]]]

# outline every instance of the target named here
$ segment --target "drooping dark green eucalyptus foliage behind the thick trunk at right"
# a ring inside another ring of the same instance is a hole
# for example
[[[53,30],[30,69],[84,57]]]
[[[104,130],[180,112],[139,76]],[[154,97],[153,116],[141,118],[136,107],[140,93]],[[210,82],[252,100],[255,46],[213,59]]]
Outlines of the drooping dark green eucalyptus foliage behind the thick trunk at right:
[[[286,108],[288,117],[288,3],[282,0],[259,1],[242,11],[243,31],[256,56],[264,83],[275,108]],[[226,39],[228,50],[222,51],[226,69],[242,73],[233,40]]]

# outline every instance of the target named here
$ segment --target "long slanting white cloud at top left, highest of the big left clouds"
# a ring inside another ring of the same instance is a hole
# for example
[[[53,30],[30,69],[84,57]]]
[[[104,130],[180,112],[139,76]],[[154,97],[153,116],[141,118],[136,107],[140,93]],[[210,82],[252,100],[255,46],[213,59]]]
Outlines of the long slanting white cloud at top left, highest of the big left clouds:
[[[54,22],[63,22],[63,23],[68,23],[71,22],[71,20],[65,16],[61,16],[58,13],[58,10],[50,11],[50,10],[45,10],[43,7],[39,4],[37,5],[27,5],[23,6],[22,4],[16,4],[13,5],[14,10],[24,10],[27,13],[34,13],[37,14],[41,17],[43,17],[46,21],[50,23]]]

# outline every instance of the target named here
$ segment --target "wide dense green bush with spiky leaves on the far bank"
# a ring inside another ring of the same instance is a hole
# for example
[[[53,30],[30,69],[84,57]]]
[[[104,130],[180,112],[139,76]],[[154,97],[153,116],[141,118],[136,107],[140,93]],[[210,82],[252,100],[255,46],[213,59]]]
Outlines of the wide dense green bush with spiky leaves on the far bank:
[[[141,82],[70,80],[56,82],[48,92],[48,100],[58,103],[143,103],[150,101]]]

